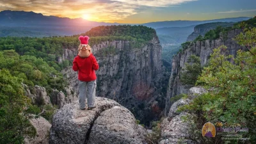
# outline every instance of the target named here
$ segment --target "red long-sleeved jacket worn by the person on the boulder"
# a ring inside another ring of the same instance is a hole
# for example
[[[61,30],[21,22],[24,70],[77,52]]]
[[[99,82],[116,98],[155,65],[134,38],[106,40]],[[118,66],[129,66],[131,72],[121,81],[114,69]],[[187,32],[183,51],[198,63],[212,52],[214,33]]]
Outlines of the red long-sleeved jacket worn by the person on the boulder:
[[[80,81],[94,81],[97,79],[95,70],[99,69],[96,58],[91,53],[87,58],[76,56],[73,61],[73,70],[78,70],[78,79]]]

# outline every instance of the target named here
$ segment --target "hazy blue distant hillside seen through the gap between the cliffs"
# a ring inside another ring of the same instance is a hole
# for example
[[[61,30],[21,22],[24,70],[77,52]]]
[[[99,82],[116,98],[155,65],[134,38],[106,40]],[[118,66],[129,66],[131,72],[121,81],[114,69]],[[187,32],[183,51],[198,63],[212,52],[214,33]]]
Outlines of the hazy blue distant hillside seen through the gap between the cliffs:
[[[224,27],[231,26],[232,24],[234,24],[234,22],[247,20],[247,19],[249,18],[237,17],[237,18],[230,18],[230,19],[216,19],[216,20],[204,20],[204,21],[177,20],[177,21],[166,21],[166,22],[150,22],[143,25],[156,29],[157,36],[159,37],[159,40],[163,47],[162,59],[166,61],[170,61],[170,58],[172,58],[172,56],[174,54],[177,54],[177,52],[179,51],[180,44],[188,40],[189,35],[193,36],[192,39],[194,39],[199,35],[203,35],[210,29],[216,28],[215,26],[219,26],[219,25]],[[214,23],[208,23],[208,22],[214,22]],[[198,27],[200,28],[199,29],[200,34],[193,33],[194,29],[196,31]],[[202,30],[202,29],[205,29],[205,30]],[[189,40],[190,39],[191,38],[189,37]]]

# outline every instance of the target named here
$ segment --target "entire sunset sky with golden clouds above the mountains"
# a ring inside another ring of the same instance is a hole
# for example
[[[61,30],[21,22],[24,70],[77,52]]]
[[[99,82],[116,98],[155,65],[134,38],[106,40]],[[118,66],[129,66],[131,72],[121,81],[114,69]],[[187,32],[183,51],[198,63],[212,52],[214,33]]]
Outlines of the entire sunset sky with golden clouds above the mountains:
[[[0,11],[33,11],[43,15],[97,22],[143,24],[166,20],[210,20],[254,17],[256,0],[1,0]]]

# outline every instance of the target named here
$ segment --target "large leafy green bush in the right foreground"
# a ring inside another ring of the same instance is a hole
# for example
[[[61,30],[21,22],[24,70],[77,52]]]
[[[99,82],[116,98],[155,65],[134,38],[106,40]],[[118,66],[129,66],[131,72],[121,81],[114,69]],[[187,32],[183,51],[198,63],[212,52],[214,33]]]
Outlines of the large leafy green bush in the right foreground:
[[[256,141],[256,28],[246,29],[244,34],[237,35],[236,41],[247,49],[237,51],[236,58],[225,55],[225,46],[214,49],[209,66],[202,70],[196,82],[209,93],[196,97],[180,110],[189,111],[194,116],[198,130],[209,121],[244,125],[249,129],[244,137],[253,143]],[[198,139],[202,140],[200,143],[205,142],[202,136]],[[207,143],[221,142],[208,140]]]

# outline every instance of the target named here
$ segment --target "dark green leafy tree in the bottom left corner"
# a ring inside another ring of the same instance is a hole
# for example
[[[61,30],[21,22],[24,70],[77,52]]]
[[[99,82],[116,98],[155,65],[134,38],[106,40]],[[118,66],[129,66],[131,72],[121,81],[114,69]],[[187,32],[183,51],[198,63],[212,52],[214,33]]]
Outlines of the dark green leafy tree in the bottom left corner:
[[[0,70],[0,143],[23,143],[24,136],[35,136],[35,128],[29,123],[24,108],[28,97],[20,79],[6,69]]]

